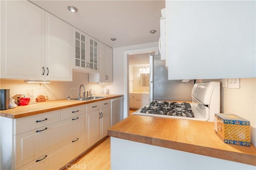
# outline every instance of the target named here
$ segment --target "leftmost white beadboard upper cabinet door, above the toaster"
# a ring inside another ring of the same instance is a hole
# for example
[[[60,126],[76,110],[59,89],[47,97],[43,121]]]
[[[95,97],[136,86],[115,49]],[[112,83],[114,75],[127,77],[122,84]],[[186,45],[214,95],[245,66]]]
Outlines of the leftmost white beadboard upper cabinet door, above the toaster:
[[[1,78],[42,80],[45,12],[28,1],[1,0]]]

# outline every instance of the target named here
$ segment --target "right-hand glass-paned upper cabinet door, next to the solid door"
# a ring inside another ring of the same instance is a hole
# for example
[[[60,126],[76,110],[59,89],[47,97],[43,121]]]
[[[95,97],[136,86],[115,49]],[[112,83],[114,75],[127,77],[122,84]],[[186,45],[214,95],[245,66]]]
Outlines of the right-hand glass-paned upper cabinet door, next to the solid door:
[[[89,38],[89,71],[90,72],[99,72],[99,63],[98,63],[98,41],[94,38]]]

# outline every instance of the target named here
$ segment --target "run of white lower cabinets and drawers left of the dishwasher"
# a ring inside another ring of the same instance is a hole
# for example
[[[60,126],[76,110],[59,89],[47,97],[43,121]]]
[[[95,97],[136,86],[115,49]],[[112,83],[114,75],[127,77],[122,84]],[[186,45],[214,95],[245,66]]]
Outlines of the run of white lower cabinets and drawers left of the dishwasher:
[[[0,122],[0,169],[60,169],[108,134],[111,100]]]

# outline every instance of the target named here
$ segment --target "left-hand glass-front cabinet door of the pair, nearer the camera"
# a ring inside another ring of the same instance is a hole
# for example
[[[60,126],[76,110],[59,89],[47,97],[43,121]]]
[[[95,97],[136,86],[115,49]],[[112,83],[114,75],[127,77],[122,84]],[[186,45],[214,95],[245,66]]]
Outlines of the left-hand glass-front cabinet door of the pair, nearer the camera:
[[[74,63],[73,69],[86,70],[89,63],[86,62],[86,34],[73,27],[74,35]]]

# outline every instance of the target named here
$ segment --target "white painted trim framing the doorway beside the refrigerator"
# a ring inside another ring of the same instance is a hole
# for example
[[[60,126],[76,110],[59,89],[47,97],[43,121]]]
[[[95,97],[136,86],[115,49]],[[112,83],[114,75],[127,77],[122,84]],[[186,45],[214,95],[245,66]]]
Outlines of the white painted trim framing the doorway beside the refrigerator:
[[[127,112],[124,112],[124,118],[128,116],[129,113],[129,72],[128,72],[128,55],[133,54],[140,54],[140,53],[150,53],[154,52],[155,55],[159,54],[158,47],[149,47],[149,48],[142,48],[142,49],[132,49],[128,51],[124,51],[124,95],[127,96],[124,98],[124,110]]]

